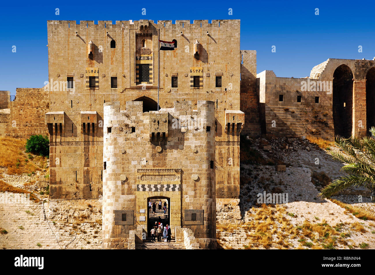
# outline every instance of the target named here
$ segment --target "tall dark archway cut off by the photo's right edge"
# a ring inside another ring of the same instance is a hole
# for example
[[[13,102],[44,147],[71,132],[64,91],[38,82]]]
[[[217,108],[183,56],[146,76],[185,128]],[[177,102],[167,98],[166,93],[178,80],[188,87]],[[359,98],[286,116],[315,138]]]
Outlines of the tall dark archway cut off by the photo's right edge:
[[[368,132],[375,126],[375,67],[366,74],[366,126]]]

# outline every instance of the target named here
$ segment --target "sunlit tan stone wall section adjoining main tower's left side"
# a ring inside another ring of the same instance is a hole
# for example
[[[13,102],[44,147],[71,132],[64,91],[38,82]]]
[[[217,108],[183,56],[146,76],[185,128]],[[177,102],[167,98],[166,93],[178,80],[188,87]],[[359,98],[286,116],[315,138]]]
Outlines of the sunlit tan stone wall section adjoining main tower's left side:
[[[15,138],[48,134],[44,122],[48,101],[49,93],[43,88],[17,88],[16,100],[10,102],[5,134]]]

